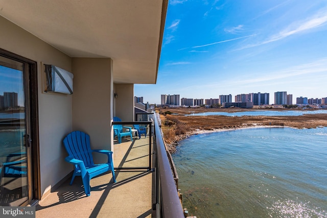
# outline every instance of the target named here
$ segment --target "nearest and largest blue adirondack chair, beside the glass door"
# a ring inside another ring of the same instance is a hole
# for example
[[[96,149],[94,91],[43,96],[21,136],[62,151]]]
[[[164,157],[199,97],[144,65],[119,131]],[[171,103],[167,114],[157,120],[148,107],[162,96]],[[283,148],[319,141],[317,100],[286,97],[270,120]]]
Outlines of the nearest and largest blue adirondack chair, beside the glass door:
[[[90,195],[90,180],[107,171],[111,171],[113,182],[116,182],[113,171],[112,152],[107,150],[91,150],[90,136],[84,132],[74,131],[69,133],[64,139],[63,144],[68,153],[65,160],[74,164],[74,174],[70,185],[73,184],[75,176],[81,176],[86,196]],[[106,154],[107,163],[95,164],[92,152]]]

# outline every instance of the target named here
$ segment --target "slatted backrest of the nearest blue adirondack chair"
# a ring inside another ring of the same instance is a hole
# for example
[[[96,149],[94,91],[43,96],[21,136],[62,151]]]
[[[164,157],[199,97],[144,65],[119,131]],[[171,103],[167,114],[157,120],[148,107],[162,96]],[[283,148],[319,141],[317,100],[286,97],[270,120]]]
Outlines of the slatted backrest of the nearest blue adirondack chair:
[[[63,144],[69,157],[82,160],[85,167],[94,165],[88,134],[80,131],[71,132],[64,138]]]

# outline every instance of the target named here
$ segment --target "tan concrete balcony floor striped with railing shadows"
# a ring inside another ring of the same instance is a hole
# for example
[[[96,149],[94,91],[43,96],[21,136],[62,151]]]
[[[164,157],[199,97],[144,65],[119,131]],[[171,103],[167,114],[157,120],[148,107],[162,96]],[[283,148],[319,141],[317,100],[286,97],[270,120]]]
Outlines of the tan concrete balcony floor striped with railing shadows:
[[[114,167],[149,165],[149,138],[114,144]],[[91,179],[91,195],[86,197],[81,177],[71,178],[42,199],[36,206],[36,217],[153,217],[152,177],[146,169],[115,171]],[[109,182],[109,184],[108,184]]]

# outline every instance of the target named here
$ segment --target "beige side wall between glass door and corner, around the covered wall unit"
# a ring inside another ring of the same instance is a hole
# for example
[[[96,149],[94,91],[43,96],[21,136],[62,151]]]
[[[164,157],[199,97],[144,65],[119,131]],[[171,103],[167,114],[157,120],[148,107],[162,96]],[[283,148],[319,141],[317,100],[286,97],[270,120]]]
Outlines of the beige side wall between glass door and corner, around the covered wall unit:
[[[41,193],[50,190],[72,166],[63,137],[72,130],[72,95],[42,93],[41,62],[72,70],[72,59],[0,16],[0,48],[37,62]]]

